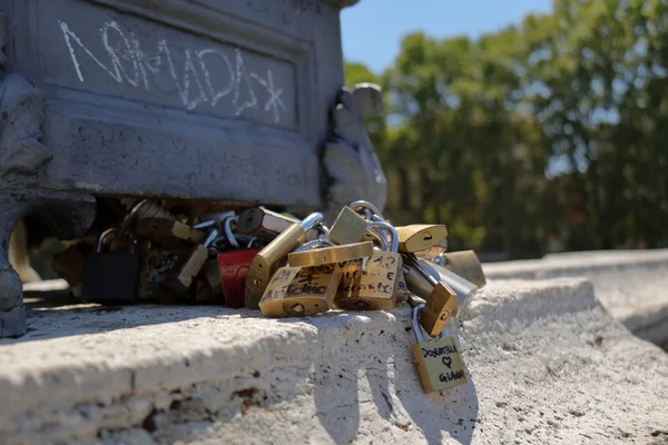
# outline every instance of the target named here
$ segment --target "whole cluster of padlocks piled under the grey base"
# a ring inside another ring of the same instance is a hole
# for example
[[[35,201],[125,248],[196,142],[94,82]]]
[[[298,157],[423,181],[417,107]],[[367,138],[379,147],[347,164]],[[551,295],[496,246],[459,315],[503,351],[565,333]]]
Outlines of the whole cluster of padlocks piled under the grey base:
[[[144,200],[96,246],[58,254],[53,269],[99,304],[214,301],[301,317],[407,303],[413,357],[432,392],[466,382],[444,329],[485,285],[475,254],[448,253],[446,236],[442,225],[393,227],[366,201],[342,208],[327,227],[322,214],[299,220],[264,207],[184,221]]]

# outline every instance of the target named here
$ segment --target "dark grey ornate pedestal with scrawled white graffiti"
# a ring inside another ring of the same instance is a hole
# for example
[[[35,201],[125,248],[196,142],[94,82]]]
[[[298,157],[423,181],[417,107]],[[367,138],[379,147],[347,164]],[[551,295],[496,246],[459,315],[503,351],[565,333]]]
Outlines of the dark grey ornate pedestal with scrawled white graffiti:
[[[0,0],[0,336],[24,333],[7,260],[24,215],[68,239],[92,222],[94,196],[299,215],[366,198],[361,176],[384,185],[341,96],[352,3]],[[347,157],[327,158],[341,139]]]

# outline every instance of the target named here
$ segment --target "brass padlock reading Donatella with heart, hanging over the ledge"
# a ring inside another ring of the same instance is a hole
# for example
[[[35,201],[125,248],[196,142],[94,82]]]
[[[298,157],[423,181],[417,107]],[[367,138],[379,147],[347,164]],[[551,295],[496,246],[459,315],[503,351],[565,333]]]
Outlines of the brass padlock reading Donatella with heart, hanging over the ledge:
[[[413,330],[418,343],[412,348],[422,389],[432,393],[465,385],[469,379],[454,337],[445,337],[441,332],[438,337],[424,339],[418,322],[423,308],[424,305],[413,308]]]

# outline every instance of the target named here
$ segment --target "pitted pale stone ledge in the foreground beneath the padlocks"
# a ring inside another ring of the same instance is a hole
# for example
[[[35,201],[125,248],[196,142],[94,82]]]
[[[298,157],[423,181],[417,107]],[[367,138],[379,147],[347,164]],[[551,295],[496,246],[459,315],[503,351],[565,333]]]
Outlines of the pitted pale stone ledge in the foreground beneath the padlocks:
[[[668,355],[582,279],[498,281],[454,326],[471,382],[424,395],[410,309],[37,308],[0,340],[0,443],[668,441]]]

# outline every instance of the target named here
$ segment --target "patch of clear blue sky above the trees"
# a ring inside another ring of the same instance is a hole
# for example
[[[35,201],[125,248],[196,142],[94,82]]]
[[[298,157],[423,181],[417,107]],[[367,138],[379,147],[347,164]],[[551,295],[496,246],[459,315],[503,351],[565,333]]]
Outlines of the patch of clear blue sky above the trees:
[[[361,0],[342,12],[343,55],[380,72],[409,32],[478,37],[551,9],[552,0]]]

